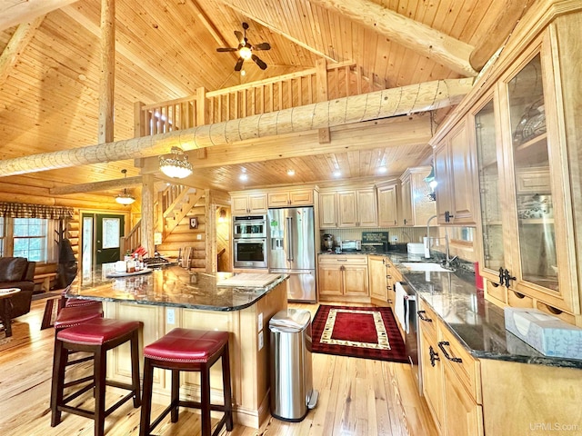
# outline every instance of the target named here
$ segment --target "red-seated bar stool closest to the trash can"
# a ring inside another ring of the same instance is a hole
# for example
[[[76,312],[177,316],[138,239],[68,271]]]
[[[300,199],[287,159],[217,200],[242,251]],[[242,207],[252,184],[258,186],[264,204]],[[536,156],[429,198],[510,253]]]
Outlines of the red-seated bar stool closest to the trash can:
[[[221,357],[224,405],[210,402],[210,368]],[[212,434],[218,434],[224,424],[227,431],[232,431],[232,394],[228,359],[228,332],[174,329],[156,342],[147,345],[144,348],[144,392],[139,435],[150,436],[151,431],[170,411],[172,412],[171,421],[177,422],[179,406],[201,410],[202,436],[211,435],[210,411],[225,413]],[[172,371],[172,388],[170,405],[156,418],[156,421],[150,424],[154,368]],[[201,401],[180,400],[181,371],[200,372]]]

